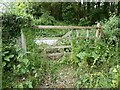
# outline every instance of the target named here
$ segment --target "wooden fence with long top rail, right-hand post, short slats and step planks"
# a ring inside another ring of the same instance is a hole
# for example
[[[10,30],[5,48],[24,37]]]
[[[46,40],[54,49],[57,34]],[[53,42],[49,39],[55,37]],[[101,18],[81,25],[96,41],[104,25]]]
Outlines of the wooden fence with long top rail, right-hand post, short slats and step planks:
[[[100,23],[97,23],[96,26],[33,26],[33,28],[38,28],[38,29],[72,29],[70,32],[68,32],[66,35],[64,35],[61,38],[67,37],[69,36],[73,31],[76,32],[76,37],[79,36],[78,30],[80,29],[86,29],[86,38],[89,38],[89,30],[90,29],[96,29],[96,34],[95,37],[96,39],[101,38],[102,36],[102,29],[101,29],[101,25]],[[89,30],[88,30],[89,29]],[[72,46],[72,43],[71,43]],[[70,46],[54,46],[54,47],[50,47],[50,48],[70,48]],[[47,48],[46,48],[47,49]],[[46,52],[46,51],[45,51]],[[52,53],[52,54],[48,54],[48,56],[61,56],[62,53]]]

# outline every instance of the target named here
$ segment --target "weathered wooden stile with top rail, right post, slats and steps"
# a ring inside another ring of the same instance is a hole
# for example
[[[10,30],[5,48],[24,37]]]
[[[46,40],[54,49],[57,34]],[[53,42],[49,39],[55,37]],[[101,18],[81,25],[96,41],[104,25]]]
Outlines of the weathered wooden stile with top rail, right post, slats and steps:
[[[76,37],[79,39],[79,38],[82,38],[82,37],[79,37],[79,32],[78,30],[80,29],[86,29],[86,37],[85,39],[91,39],[89,37],[89,30],[90,29],[96,29],[96,35],[95,37],[96,38],[100,38],[101,37],[101,25],[100,23],[97,23],[97,26],[41,26],[41,25],[38,25],[38,26],[33,26],[33,28],[38,28],[38,29],[70,29],[70,31],[68,33],[66,33],[63,37],[61,37],[61,39],[63,38],[67,38],[67,37],[70,37],[71,34],[73,33],[73,31],[75,30],[76,31]],[[67,46],[50,46],[50,47],[46,47],[44,49],[44,52],[46,53],[46,49],[64,49],[64,48],[71,48],[73,46],[73,43],[71,42],[71,45],[67,45]],[[71,51],[71,54],[73,53],[73,51]],[[62,55],[64,54],[64,52],[61,52],[61,53],[49,53],[46,55],[48,57],[53,57],[55,58],[56,56],[57,57],[61,57]],[[71,59],[72,59],[72,56],[71,56]]]

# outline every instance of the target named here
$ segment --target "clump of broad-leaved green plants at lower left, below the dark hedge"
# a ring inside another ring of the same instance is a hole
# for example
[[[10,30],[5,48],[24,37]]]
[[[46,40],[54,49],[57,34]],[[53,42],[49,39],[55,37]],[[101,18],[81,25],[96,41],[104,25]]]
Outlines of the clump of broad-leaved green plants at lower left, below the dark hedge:
[[[23,52],[23,50],[17,45],[10,44],[9,46],[5,46],[2,52],[2,71],[4,74],[2,82],[3,88],[13,87],[13,83],[16,82],[15,79],[17,77],[20,78],[27,75],[29,72],[28,67],[30,66],[30,62],[26,58],[25,52]],[[6,77],[8,74],[9,76]]]

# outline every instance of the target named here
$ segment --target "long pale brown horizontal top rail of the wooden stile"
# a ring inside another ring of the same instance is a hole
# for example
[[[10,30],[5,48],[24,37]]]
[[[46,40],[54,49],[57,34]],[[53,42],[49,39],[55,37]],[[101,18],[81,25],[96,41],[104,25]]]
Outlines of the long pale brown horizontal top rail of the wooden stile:
[[[39,29],[96,29],[97,27],[93,26],[33,26],[33,28]]]

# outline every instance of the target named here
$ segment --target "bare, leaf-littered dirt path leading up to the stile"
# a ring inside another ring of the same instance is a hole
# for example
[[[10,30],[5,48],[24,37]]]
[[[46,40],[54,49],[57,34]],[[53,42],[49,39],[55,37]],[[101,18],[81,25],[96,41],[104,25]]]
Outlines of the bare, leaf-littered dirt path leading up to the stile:
[[[76,80],[72,66],[60,65],[52,78],[50,75],[45,76],[44,82],[38,88],[74,88]]]

